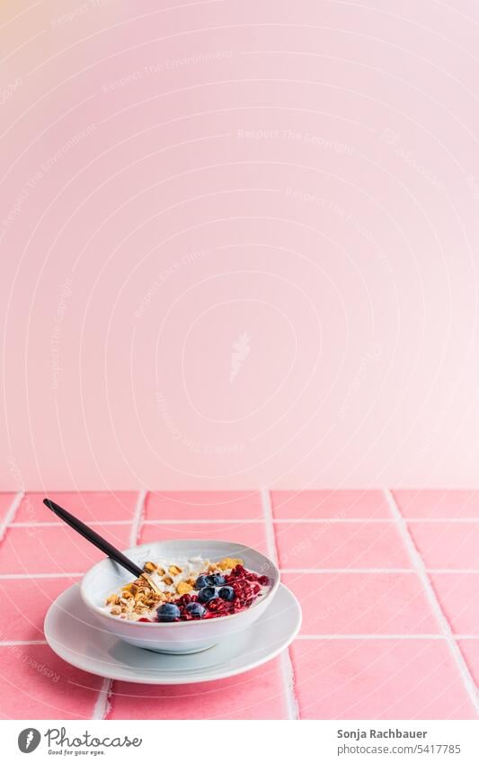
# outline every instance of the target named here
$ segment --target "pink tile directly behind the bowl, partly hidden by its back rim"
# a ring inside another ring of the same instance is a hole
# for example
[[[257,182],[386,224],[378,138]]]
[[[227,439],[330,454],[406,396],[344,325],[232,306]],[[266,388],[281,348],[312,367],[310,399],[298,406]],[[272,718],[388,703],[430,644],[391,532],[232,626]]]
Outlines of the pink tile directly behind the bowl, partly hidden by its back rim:
[[[186,526],[172,523],[172,525],[143,526],[140,544],[167,538],[217,539],[230,541],[232,544],[246,544],[266,553],[264,527],[259,523],[205,523],[204,525],[191,523]]]

